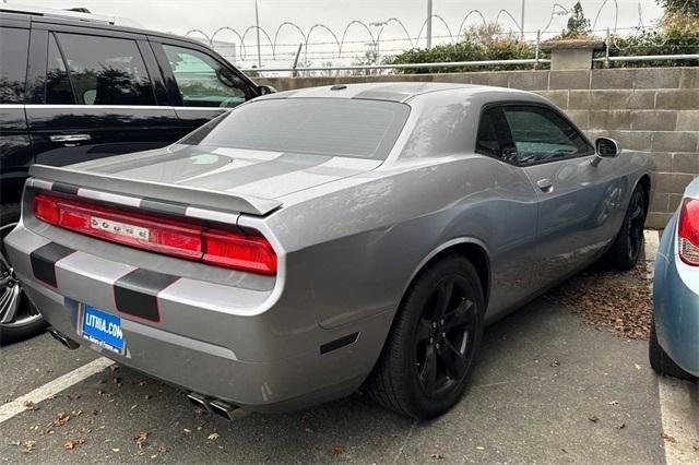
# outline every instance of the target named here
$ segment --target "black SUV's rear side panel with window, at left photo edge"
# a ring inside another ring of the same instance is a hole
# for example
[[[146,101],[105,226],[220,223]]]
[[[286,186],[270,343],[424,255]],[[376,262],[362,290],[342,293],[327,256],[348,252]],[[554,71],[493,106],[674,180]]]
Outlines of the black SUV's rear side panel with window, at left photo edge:
[[[0,19],[0,199],[20,201],[32,164],[32,145],[24,116],[24,87],[29,23]]]

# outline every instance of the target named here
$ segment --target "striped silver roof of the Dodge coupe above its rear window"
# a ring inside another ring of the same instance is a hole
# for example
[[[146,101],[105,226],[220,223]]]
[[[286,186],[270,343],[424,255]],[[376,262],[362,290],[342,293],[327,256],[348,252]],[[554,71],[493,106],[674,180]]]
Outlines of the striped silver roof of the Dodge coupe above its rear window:
[[[306,87],[266,95],[262,98],[363,98],[371,100],[406,102],[418,95],[462,90],[466,93],[508,92],[528,94],[523,91],[507,87],[491,87],[485,85],[459,84],[448,82],[375,82],[363,84],[335,84],[319,87]]]

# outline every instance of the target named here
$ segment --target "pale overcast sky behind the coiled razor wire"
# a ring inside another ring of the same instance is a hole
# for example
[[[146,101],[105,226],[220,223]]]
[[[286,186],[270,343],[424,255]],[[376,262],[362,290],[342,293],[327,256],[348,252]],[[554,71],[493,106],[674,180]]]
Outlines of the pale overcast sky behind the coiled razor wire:
[[[215,39],[226,43],[235,43],[234,46],[217,47],[216,49],[226,58],[241,67],[249,67],[257,61],[254,0],[2,0],[8,4],[36,5],[43,8],[63,9],[71,7],[85,7],[95,14],[107,16],[128,17],[138,22],[147,29],[169,32],[185,35],[191,29],[199,29],[211,36],[217,28],[227,26],[234,28],[241,36],[245,35],[245,48],[240,47],[240,40],[235,33],[224,29]],[[525,0],[524,31],[526,37],[536,36],[537,29],[543,29],[550,22],[548,33],[559,33],[566,22],[565,15],[552,16],[552,11],[562,12],[562,8],[571,10],[574,0]],[[652,26],[662,15],[662,10],[654,0],[582,0],[585,16],[594,22],[600,12],[594,28],[601,35],[607,27],[616,27],[619,32],[636,27],[639,24]],[[556,4],[558,4],[556,7]],[[618,15],[616,14],[618,5]],[[639,8],[641,22],[639,22]],[[396,21],[389,22],[381,33],[380,51],[382,55],[393,55],[411,45],[425,46],[425,31],[416,40],[420,27],[427,15],[427,0],[258,0],[260,27],[276,44],[274,56],[272,46],[261,37],[261,61],[263,67],[288,65],[294,58],[299,43],[304,43],[301,34],[291,25],[277,28],[284,22],[293,22],[308,36],[309,31],[316,24],[322,24],[330,28],[342,40],[345,28],[352,21],[362,21],[367,24],[371,35],[378,35],[380,26],[370,23],[384,22],[390,17],[400,20],[412,37],[407,40],[405,32]],[[433,43],[450,43],[461,27],[464,16],[472,10],[483,14],[485,21],[495,22],[498,19],[505,29],[520,31],[522,0],[434,0],[433,14]],[[507,11],[512,17],[509,17]],[[482,23],[477,13],[469,15],[464,27],[470,24]],[[448,27],[447,27],[448,26]],[[249,28],[249,29],[248,29]],[[248,33],[245,34],[246,29]],[[276,40],[275,40],[276,35]],[[202,34],[190,33],[192,37],[201,37]],[[346,29],[343,51],[339,55],[339,46],[330,32],[322,26],[312,28],[308,36],[308,61],[321,64],[327,61],[346,62],[363,55],[372,43],[369,32],[358,23],[352,24]]]

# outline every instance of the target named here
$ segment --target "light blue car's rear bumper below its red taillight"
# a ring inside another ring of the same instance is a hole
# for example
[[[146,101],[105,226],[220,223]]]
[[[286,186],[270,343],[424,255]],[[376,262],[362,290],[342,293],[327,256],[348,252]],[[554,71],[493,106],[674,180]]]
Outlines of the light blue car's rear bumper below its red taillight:
[[[655,259],[655,331],[665,353],[683,370],[699,377],[699,270],[685,265],[676,255],[675,229],[671,220]]]

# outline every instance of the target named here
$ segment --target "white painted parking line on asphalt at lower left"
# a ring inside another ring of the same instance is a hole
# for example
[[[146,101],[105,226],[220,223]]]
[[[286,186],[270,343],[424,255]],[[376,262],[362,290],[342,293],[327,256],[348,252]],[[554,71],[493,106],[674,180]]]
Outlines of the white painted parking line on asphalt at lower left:
[[[112,360],[109,360],[105,357],[99,357],[98,359],[93,360],[90,363],[83,365],[82,367],[68,372],[62,377],[55,379],[54,381],[50,381],[43,386],[35,389],[28,394],[25,394],[12,402],[0,406],[0,424],[26,410],[26,405],[28,403],[38,404],[42,401],[46,401],[50,396],[56,395],[59,392],[74,384],[78,384],[83,380],[86,380],[87,378],[100,372],[111,365],[114,365]]]

